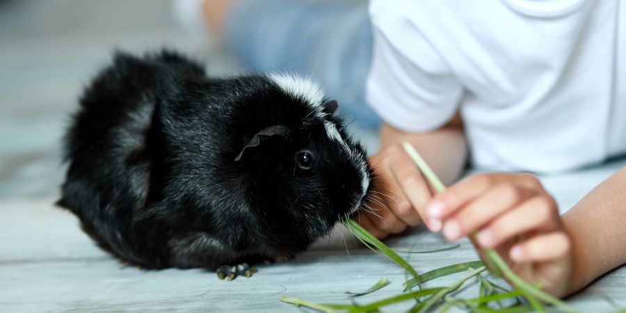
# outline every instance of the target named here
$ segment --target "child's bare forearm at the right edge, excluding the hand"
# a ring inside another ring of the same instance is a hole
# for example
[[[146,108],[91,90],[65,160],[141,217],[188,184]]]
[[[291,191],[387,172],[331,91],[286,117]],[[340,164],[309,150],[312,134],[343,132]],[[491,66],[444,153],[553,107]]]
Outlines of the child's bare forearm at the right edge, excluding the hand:
[[[568,294],[626,263],[625,222],[626,167],[563,215],[573,253]]]

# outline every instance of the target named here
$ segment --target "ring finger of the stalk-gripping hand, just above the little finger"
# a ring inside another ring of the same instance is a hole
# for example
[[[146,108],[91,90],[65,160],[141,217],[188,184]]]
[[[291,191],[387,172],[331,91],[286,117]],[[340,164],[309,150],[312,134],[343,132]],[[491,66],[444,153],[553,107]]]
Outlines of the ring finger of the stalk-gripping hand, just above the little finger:
[[[505,212],[483,227],[478,234],[478,242],[481,246],[495,248],[514,236],[531,230],[552,230],[556,219],[558,219],[558,212],[554,200],[545,195],[538,195]]]

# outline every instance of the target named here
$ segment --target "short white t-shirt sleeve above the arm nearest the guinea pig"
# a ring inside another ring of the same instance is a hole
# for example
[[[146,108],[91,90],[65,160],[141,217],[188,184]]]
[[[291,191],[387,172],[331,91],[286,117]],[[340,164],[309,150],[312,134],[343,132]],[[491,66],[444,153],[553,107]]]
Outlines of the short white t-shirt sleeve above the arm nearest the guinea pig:
[[[403,131],[438,129],[456,113],[463,86],[410,10],[397,3],[371,1],[374,54],[366,99],[385,122]]]

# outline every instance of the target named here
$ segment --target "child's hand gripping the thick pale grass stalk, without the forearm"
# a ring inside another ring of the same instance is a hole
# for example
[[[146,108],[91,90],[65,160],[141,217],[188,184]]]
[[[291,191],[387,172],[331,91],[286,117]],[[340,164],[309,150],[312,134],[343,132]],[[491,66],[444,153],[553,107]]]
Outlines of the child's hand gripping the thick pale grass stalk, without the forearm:
[[[477,232],[472,241],[481,257],[481,248],[495,248],[527,282],[556,296],[565,294],[572,267],[570,237],[556,202],[533,175],[474,175],[436,195],[425,216],[441,222],[448,240]]]

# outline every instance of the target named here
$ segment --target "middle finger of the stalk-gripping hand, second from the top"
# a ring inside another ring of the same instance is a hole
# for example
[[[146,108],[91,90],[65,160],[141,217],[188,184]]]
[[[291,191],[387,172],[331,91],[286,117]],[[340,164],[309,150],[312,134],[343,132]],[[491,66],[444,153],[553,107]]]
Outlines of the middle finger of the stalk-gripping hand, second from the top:
[[[447,218],[443,227],[444,236],[448,240],[467,236],[530,195],[531,191],[512,183],[497,184]]]

